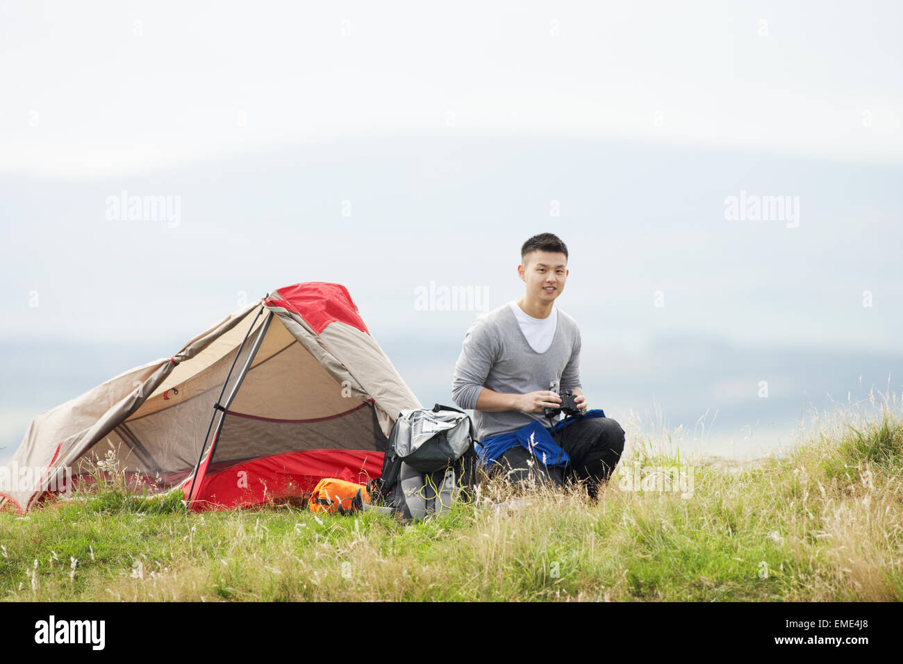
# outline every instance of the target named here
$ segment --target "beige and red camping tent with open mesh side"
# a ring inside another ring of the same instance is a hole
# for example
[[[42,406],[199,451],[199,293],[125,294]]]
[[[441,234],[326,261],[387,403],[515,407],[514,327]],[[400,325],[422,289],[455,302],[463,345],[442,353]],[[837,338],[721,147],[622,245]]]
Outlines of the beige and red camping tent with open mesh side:
[[[344,286],[286,286],[34,417],[0,468],[13,480],[0,508],[33,508],[111,446],[129,477],[181,490],[193,509],[362,482],[379,475],[398,413],[419,407]]]

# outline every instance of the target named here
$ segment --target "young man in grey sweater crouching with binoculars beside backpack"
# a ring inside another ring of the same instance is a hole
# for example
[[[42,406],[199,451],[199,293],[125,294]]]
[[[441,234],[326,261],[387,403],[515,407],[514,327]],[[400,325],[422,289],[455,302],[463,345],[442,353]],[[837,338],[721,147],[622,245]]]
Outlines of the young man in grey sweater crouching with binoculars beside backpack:
[[[554,306],[568,276],[567,247],[552,233],[529,238],[517,274],[524,296],[480,316],[455,365],[452,399],[474,410],[478,451],[490,471],[515,482],[537,472],[543,482],[582,482],[592,498],[624,450],[624,430],[601,410],[587,410],[580,381],[577,323]],[[580,415],[553,425],[544,407],[573,390]]]

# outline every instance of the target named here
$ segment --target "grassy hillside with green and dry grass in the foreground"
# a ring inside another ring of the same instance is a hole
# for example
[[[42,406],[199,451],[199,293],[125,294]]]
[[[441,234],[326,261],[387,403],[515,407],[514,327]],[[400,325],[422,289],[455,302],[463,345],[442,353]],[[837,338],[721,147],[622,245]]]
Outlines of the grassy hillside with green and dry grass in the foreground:
[[[903,422],[824,427],[782,458],[630,454],[589,502],[502,482],[405,525],[292,507],[196,514],[98,495],[0,514],[0,598],[22,600],[903,599]]]

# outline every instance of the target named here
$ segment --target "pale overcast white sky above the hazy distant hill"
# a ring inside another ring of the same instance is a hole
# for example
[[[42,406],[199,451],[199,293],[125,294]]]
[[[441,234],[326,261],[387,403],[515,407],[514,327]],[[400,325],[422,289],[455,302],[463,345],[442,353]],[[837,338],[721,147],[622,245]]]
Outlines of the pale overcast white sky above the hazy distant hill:
[[[899,163],[903,5],[0,4],[0,168],[461,129]]]

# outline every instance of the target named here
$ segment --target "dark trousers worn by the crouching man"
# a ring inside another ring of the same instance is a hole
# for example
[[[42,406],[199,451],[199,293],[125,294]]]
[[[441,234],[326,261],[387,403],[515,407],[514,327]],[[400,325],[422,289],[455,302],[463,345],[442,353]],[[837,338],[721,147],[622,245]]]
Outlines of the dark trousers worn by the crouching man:
[[[591,498],[596,498],[599,482],[607,482],[624,452],[624,429],[610,417],[586,417],[565,426],[554,435],[571,457],[564,468],[546,468],[522,445],[502,454],[493,463],[490,473],[504,472],[517,484],[529,482],[563,486],[566,482],[581,482]]]

